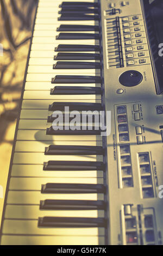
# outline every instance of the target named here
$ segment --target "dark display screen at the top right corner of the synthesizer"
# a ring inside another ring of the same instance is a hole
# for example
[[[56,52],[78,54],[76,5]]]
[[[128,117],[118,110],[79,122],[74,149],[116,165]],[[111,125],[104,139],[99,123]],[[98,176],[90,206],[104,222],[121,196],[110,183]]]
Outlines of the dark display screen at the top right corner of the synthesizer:
[[[163,93],[163,0],[143,0],[148,38],[156,72],[157,93]]]

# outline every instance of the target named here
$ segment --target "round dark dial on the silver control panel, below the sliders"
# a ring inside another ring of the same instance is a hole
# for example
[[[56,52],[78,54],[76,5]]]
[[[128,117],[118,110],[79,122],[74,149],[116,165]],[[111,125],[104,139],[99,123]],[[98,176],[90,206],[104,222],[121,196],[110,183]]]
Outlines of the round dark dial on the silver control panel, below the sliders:
[[[133,87],[139,85],[143,80],[143,76],[140,72],[135,70],[128,70],[120,75],[120,84],[127,87]]]

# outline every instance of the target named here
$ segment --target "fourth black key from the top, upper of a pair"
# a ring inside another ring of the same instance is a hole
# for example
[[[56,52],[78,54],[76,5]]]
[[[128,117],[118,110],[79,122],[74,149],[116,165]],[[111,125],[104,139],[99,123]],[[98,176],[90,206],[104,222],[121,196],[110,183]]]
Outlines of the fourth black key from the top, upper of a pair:
[[[99,26],[90,25],[60,25],[57,31],[99,31]]]

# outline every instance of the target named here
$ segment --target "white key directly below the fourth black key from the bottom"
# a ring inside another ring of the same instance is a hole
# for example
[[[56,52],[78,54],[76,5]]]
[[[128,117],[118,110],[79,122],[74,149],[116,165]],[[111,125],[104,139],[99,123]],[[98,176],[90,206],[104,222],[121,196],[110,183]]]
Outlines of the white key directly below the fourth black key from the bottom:
[[[30,141],[31,143],[31,141]],[[71,144],[70,142],[69,144]],[[81,141],[80,141],[81,144]],[[83,145],[83,144],[82,144]],[[46,146],[49,146],[46,145]],[[43,171],[42,165],[13,164],[12,177],[103,178],[103,171]]]

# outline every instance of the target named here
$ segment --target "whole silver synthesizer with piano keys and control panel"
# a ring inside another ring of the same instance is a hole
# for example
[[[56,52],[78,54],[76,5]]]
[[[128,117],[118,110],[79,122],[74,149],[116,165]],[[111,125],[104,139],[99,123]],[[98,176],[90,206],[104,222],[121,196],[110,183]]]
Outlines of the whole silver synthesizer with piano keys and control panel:
[[[162,13],[160,0],[38,1],[1,245],[162,245]],[[92,111],[92,129],[54,129],[65,107]]]

